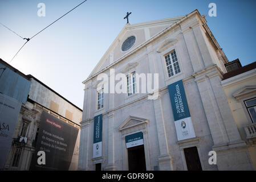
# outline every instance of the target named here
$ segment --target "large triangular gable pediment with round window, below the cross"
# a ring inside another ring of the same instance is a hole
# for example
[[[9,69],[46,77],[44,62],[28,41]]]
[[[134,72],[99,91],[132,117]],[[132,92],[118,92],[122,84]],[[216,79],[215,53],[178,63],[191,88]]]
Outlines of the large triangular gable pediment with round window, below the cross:
[[[97,63],[96,67],[91,72],[89,77],[94,76],[97,72],[107,68],[109,65],[117,61],[120,57],[133,51],[133,49],[136,49],[141,44],[147,42],[153,36],[159,34],[159,32],[165,30],[165,28],[171,26],[173,23],[178,22],[178,20],[182,19],[183,17],[184,16],[176,16],[173,18],[153,20],[151,22],[137,24],[127,23],[123,27],[119,35],[116,37],[116,39],[113,41],[111,46],[108,48],[108,50],[105,52],[103,57],[101,57],[99,63]],[[129,38],[129,36],[136,37],[135,43],[127,51],[122,51],[121,46],[124,41]]]

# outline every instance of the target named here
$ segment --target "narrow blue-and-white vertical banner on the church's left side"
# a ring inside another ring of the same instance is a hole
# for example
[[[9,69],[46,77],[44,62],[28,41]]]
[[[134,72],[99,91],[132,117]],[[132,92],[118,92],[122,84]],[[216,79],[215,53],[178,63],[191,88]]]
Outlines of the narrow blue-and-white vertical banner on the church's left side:
[[[94,148],[93,158],[102,156],[102,114],[94,117]]]

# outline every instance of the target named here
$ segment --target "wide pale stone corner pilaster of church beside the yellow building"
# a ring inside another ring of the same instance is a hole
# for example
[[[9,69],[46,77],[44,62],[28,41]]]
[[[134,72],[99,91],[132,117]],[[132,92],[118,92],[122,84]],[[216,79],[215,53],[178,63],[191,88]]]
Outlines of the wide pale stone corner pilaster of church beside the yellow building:
[[[219,170],[252,170],[246,143],[241,139],[221,86],[222,73],[216,66],[193,75],[204,106]]]

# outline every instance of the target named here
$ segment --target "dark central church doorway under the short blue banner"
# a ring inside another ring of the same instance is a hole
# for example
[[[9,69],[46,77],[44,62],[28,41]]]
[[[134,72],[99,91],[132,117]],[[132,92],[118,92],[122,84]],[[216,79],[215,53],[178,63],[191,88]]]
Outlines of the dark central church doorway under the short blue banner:
[[[129,171],[146,171],[144,145],[128,148]]]

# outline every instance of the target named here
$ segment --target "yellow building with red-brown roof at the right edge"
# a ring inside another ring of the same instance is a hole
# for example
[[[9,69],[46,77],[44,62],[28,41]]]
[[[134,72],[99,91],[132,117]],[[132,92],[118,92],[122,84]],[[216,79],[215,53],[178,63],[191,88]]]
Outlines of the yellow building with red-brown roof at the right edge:
[[[225,73],[221,84],[256,167],[256,62]]]

